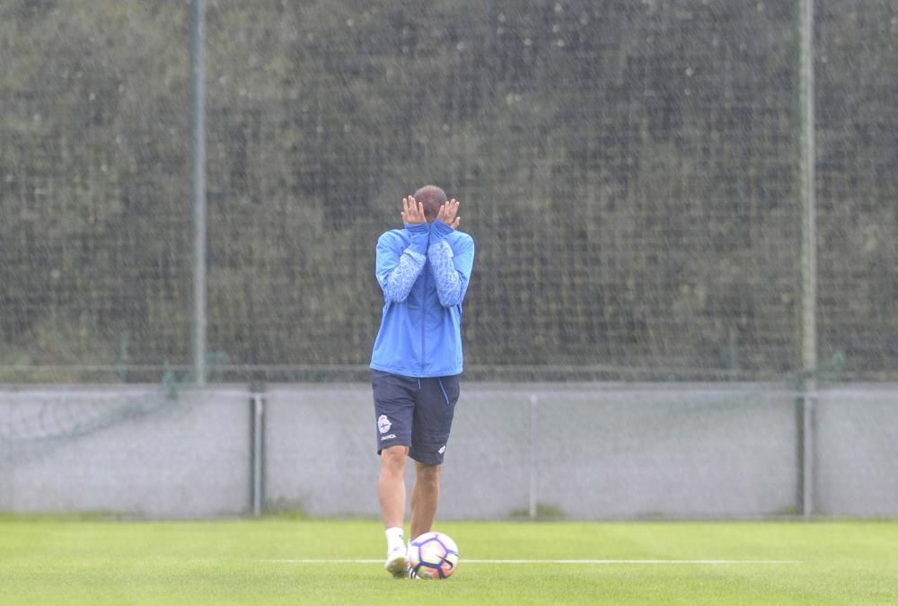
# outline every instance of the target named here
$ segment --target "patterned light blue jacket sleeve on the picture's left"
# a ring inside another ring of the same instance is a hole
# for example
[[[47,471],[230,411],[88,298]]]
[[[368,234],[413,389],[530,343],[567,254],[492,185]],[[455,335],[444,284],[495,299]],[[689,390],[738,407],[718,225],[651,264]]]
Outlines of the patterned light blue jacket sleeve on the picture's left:
[[[415,280],[427,262],[429,227],[427,224],[406,225],[411,243],[401,250],[401,243],[392,233],[384,233],[377,241],[377,260],[374,275],[383,290],[383,298],[402,303],[409,296]]]

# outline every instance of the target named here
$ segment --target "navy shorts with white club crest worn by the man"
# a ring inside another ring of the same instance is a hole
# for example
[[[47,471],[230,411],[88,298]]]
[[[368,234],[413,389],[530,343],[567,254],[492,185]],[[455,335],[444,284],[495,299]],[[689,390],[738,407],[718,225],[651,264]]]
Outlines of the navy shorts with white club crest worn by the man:
[[[457,374],[416,379],[372,371],[377,453],[408,446],[415,461],[441,464],[458,401],[458,379]]]

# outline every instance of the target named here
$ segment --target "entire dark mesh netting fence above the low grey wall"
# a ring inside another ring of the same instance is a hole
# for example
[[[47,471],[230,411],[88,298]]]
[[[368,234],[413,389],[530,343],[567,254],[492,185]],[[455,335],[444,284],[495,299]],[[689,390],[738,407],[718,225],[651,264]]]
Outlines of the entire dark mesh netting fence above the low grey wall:
[[[799,4],[208,0],[208,379],[364,377],[427,182],[469,377],[797,376]],[[894,380],[898,7],[815,4],[817,370]],[[189,13],[0,8],[0,380],[190,372]]]

